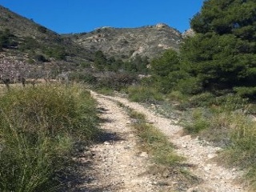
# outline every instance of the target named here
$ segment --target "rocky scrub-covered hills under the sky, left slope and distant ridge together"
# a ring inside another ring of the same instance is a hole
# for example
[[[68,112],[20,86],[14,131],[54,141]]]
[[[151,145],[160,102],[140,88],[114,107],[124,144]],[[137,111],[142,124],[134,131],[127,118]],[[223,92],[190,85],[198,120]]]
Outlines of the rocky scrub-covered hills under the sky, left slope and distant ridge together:
[[[13,66],[11,63],[15,60],[22,61],[30,69],[47,69],[60,74],[93,66],[97,50],[102,50],[107,58],[114,56],[126,61],[136,58],[136,55],[154,58],[164,50],[178,50],[181,41],[182,34],[163,23],[138,28],[102,27],[81,34],[58,34],[0,6],[2,66],[5,63]],[[18,62],[14,63],[18,65]]]

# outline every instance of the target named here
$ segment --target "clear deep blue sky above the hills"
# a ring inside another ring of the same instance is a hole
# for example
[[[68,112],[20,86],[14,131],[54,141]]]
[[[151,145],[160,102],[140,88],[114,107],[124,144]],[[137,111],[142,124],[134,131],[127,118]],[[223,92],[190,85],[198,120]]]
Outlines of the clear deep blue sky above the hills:
[[[0,0],[0,5],[59,34],[102,26],[137,27],[164,22],[183,32],[203,0]]]

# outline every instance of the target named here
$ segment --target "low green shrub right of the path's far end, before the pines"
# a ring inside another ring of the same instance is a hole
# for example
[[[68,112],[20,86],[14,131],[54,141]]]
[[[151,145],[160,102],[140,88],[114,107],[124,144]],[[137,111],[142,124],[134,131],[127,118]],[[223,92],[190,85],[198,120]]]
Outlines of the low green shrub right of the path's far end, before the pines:
[[[158,90],[146,86],[128,87],[128,97],[132,102],[159,102],[163,95]]]

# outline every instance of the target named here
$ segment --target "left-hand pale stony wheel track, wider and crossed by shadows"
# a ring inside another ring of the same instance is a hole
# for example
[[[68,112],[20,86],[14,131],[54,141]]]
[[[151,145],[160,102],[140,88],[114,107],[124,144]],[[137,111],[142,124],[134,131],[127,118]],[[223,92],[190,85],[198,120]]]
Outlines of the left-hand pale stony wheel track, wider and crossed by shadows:
[[[84,170],[90,181],[77,186],[75,191],[158,191],[154,177],[146,174],[150,161],[138,150],[138,137],[130,126],[130,118],[116,102],[92,93],[101,110],[102,142],[92,146],[91,168]],[[86,159],[88,161],[88,159]]]

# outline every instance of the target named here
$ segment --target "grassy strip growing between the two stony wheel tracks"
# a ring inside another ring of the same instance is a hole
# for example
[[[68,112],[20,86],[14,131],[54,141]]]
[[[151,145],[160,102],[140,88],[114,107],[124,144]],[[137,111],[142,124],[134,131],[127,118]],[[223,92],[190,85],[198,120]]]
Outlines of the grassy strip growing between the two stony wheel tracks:
[[[149,154],[154,162],[154,166],[150,167],[151,174],[158,174],[160,178],[178,181],[178,185],[182,185],[184,189],[199,182],[198,178],[190,174],[187,165],[183,163],[185,158],[175,153],[174,146],[166,135],[147,123],[144,114],[124,106],[121,102],[118,102],[118,104],[126,108],[130,118],[134,119],[132,126],[140,138],[139,146]],[[168,182],[166,184],[162,182],[162,185],[169,184]]]

